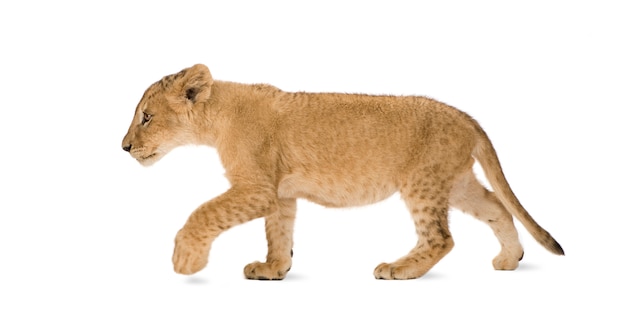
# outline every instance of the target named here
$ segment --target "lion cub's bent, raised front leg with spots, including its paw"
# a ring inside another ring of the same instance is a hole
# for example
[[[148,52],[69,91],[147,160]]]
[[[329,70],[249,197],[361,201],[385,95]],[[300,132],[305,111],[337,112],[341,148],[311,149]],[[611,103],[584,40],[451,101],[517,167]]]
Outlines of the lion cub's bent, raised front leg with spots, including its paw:
[[[202,270],[211,244],[221,232],[272,212],[275,201],[270,196],[258,189],[231,188],[198,207],[176,235],[174,271],[189,275]]]

